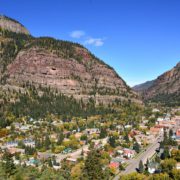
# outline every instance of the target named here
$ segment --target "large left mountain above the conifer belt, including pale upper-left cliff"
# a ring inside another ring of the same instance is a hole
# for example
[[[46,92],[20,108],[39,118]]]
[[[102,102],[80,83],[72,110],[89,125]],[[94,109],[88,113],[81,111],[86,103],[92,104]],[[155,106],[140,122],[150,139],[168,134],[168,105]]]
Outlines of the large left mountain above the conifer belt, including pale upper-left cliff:
[[[25,84],[48,87],[96,104],[115,100],[139,102],[113,68],[77,43],[34,38],[16,20],[0,17],[0,79],[8,88]]]

